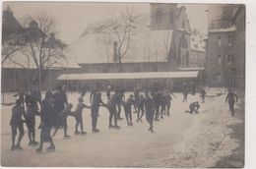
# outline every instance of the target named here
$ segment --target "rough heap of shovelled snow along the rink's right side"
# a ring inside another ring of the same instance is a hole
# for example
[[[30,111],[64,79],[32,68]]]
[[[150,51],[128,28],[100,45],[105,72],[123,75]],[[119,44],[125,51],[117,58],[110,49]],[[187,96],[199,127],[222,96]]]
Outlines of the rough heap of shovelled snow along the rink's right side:
[[[242,122],[230,117],[224,97],[216,100],[215,105],[215,110],[205,110],[195,116],[184,141],[174,147],[177,153],[164,159],[165,164],[172,167],[212,167],[238,147],[238,142],[230,139],[232,131],[227,126]]]

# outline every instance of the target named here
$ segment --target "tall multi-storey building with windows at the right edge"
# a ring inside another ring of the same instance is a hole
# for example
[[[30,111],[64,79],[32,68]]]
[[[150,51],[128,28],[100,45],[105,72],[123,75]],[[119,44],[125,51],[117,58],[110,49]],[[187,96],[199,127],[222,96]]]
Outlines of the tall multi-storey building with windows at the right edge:
[[[206,71],[210,85],[244,87],[245,10],[242,8],[243,5],[209,8]]]

